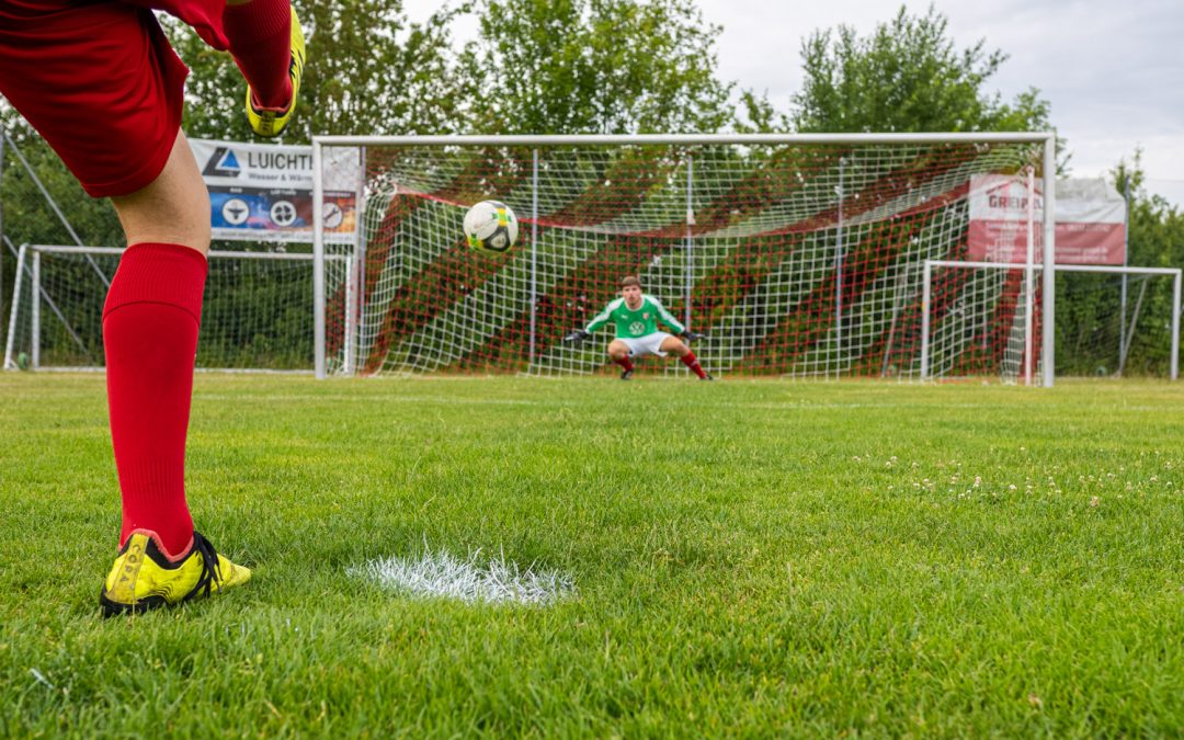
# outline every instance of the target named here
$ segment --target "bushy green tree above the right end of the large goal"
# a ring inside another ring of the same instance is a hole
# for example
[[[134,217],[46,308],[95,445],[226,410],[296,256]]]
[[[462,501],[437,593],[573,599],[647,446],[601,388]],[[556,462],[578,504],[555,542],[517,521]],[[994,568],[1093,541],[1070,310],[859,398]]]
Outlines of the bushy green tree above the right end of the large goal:
[[[799,131],[1023,131],[1049,129],[1049,104],[1030,89],[1011,104],[984,91],[1006,60],[979,40],[958,51],[931,5],[896,17],[868,37],[838,26],[802,47],[805,84],[790,121]]]

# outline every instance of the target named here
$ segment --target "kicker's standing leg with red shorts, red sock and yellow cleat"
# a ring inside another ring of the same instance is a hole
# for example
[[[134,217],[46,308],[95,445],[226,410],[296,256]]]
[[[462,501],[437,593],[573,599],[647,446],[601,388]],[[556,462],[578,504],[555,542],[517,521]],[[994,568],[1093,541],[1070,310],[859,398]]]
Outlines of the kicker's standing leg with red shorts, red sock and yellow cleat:
[[[30,44],[36,38],[36,44]],[[185,437],[210,206],[180,137],[185,66],[150,12],[79,5],[0,27],[0,92],[127,231],[104,303],[111,439],[123,498],[112,611],[176,603],[250,577],[193,530]]]

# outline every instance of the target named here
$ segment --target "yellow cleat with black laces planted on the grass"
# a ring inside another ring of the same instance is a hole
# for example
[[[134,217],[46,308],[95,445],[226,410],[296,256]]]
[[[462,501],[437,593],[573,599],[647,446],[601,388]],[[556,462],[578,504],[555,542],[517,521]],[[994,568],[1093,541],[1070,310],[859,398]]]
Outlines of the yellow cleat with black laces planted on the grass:
[[[170,561],[157,546],[155,533],[136,529],[115,559],[98,603],[104,617],[144,612],[223,592],[250,579],[249,568],[215,553],[199,532],[193,533],[189,552]]]

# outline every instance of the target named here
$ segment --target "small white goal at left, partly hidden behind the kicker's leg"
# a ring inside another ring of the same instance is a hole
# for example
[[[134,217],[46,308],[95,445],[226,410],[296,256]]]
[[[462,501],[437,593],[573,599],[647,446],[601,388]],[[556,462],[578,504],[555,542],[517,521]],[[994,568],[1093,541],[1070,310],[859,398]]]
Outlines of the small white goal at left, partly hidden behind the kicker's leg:
[[[6,369],[98,369],[103,301],[123,250],[25,245],[17,258]],[[328,287],[345,284],[349,256],[330,256]],[[314,371],[313,255],[212,251],[197,366]],[[343,305],[342,294],[340,303]],[[337,316],[342,305],[329,304]],[[329,358],[330,367],[339,361]]]

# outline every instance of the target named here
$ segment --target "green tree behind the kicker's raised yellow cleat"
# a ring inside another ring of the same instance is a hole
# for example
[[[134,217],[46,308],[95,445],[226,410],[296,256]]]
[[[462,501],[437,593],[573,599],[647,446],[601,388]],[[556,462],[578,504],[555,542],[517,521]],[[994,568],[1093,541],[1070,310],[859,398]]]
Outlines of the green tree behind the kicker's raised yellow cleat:
[[[317,134],[439,134],[463,121],[451,26],[468,6],[444,7],[411,22],[403,0],[296,2],[309,60],[287,142]],[[185,130],[191,136],[250,141],[245,83],[230,54],[188,26],[166,21],[189,65]]]

